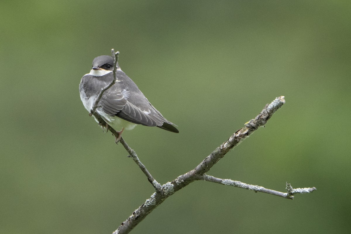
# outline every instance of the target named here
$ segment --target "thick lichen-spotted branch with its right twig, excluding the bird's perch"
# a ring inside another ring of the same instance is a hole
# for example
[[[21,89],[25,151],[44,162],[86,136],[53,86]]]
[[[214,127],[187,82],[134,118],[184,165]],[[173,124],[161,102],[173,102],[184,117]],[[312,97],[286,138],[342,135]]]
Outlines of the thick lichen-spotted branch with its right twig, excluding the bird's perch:
[[[216,164],[224,155],[230,151],[234,146],[237,146],[253,131],[256,131],[260,126],[264,126],[272,116],[283,104],[285,103],[284,96],[276,98],[272,103],[267,104],[255,119],[245,123],[245,126],[235,132],[227,141],[217,147],[210,155],[207,156],[195,169],[178,176],[172,182],[167,182],[162,185],[161,190],[151,195],[149,199],[145,201],[138,209],[136,209],[131,216],[124,221],[113,234],[129,233],[138,223],[140,223],[153,209],[160,205],[166,198],[177,192],[179,189],[185,187],[189,183],[195,180],[208,180],[211,182],[217,182],[226,185],[232,185],[235,187],[246,188],[257,192],[265,192],[284,198],[292,199],[293,192],[297,192],[298,189],[292,189],[291,193],[282,193],[271,189],[266,189],[260,186],[248,185],[239,181],[223,180],[214,178],[213,176],[205,175],[211,167]],[[311,188],[311,192],[315,188]]]

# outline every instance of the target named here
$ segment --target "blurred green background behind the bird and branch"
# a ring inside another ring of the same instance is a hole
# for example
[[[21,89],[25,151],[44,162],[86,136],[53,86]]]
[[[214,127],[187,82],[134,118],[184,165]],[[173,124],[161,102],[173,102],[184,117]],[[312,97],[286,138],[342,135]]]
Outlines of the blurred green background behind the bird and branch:
[[[350,231],[351,3],[1,1],[0,233],[112,233],[153,193],[78,92],[119,64],[179,134],[124,139],[160,183],[193,169],[276,96],[286,104],[208,173],[291,201],[194,182],[132,233]]]

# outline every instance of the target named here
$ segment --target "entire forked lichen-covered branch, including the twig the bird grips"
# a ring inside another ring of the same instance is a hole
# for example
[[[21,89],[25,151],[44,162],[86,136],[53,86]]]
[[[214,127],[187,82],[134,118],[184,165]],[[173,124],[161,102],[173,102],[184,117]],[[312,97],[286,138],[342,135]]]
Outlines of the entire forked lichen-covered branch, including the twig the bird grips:
[[[99,108],[99,102],[104,94],[104,92],[112,87],[115,82],[118,82],[116,76],[116,70],[118,67],[118,54],[114,53],[114,49],[111,50],[112,57],[114,58],[114,68],[113,68],[113,80],[107,85],[105,88],[102,88],[97,100],[95,101],[91,112],[89,115],[94,115],[94,117],[99,121],[99,125],[105,126],[107,130],[110,130],[111,133],[118,138],[119,132],[113,129],[111,126],[107,125],[104,119],[97,113],[96,109]],[[285,103],[284,96],[280,96],[276,98],[270,104],[267,104],[265,108],[261,111],[259,115],[256,116],[255,119],[250,120],[245,123],[245,126],[238,131],[236,131],[230,138],[217,147],[210,155],[208,155],[196,168],[193,170],[178,176],[178,178],[174,179],[172,182],[167,182],[164,185],[160,185],[153,176],[147,171],[146,167],[143,163],[140,162],[135,151],[130,148],[123,138],[120,138],[121,144],[124,146],[126,151],[129,153],[129,156],[134,160],[135,163],[139,166],[141,171],[146,175],[148,181],[154,186],[155,193],[153,193],[149,199],[145,201],[143,205],[141,205],[138,209],[136,209],[131,216],[128,217],[126,221],[124,221],[117,230],[113,232],[113,234],[121,234],[121,233],[129,233],[138,223],[140,223],[152,210],[154,210],[158,205],[160,205],[166,198],[177,192],[179,189],[185,187],[189,183],[196,180],[205,180],[215,183],[220,183],[223,185],[230,185],[239,188],[245,188],[249,190],[253,190],[255,192],[264,192],[277,196],[281,196],[283,198],[293,199],[294,194],[297,193],[311,193],[316,190],[315,187],[312,188],[292,188],[292,186],[286,183],[287,193],[278,192],[272,189],[266,189],[257,185],[249,185],[240,181],[234,181],[230,179],[220,179],[210,175],[206,175],[214,164],[216,164],[221,158],[224,157],[226,153],[230,151],[233,147],[237,146],[241,141],[243,141],[247,136],[249,136],[252,132],[256,131],[260,126],[264,126],[266,122],[271,118],[274,112],[276,112],[282,105]]]

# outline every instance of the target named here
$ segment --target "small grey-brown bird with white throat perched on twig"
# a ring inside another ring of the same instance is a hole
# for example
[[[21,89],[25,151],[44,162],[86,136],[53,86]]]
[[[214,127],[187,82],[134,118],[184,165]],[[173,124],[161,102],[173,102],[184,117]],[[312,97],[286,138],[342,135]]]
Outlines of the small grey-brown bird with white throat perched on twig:
[[[91,111],[100,91],[113,80],[114,61],[112,56],[101,55],[93,60],[90,73],[85,74],[79,84],[80,99],[85,109]],[[115,130],[120,129],[116,143],[122,132],[131,130],[138,124],[159,127],[179,133],[174,123],[166,120],[147,100],[138,86],[119,67],[116,61],[116,82],[108,88],[98,103],[97,113]],[[95,116],[94,116],[95,118]],[[95,118],[99,123],[99,121]],[[101,123],[99,123],[101,125]],[[108,126],[106,128],[108,129]]]

